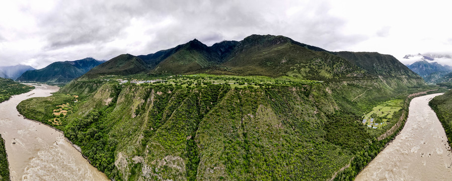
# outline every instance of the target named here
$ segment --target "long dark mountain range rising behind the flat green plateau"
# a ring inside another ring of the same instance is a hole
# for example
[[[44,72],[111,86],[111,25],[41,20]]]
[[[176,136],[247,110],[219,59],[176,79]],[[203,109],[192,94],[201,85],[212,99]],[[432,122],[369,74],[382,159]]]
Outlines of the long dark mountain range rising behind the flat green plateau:
[[[194,39],[152,54],[123,54],[93,68],[83,77],[135,73],[292,76],[317,80],[366,76],[418,77],[391,55],[330,52],[273,35],[251,35],[242,41],[222,41],[212,46]]]

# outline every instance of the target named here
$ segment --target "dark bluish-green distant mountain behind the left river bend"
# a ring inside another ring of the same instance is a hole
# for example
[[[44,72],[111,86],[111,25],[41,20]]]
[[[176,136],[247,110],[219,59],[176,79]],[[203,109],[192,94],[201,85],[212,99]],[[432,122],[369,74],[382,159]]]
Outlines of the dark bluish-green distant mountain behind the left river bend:
[[[36,81],[47,83],[67,83],[77,78],[93,67],[100,65],[103,61],[94,58],[84,58],[75,61],[59,61],[38,69],[24,72],[18,81]]]

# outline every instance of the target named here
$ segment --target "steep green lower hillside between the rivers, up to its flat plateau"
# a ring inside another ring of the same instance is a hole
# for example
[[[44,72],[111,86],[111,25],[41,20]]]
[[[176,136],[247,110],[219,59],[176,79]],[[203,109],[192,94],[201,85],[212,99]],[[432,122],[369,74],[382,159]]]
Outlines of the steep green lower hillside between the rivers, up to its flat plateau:
[[[400,78],[154,79],[165,81],[73,81],[17,108],[62,130],[115,180],[325,180],[348,164],[336,179],[351,180],[393,138],[377,139],[406,116],[408,102],[388,120],[391,125],[379,129],[362,125],[362,115],[389,99],[432,88]],[[68,114],[52,114],[62,104]]]

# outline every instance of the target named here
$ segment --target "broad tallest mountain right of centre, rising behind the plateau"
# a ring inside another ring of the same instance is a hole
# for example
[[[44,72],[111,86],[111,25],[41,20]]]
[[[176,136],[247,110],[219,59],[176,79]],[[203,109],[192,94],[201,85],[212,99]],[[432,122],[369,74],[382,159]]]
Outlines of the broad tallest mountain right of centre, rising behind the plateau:
[[[320,48],[309,48],[283,36],[252,35],[241,41],[221,65],[238,75],[288,75],[317,80],[362,73],[340,57]]]

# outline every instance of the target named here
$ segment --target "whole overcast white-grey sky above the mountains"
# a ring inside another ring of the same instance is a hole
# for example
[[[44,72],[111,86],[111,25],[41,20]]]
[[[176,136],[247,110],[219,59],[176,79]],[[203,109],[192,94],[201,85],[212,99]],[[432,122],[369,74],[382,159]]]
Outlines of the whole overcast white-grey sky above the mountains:
[[[449,1],[1,1],[0,66],[283,35],[330,51],[452,54]]]

